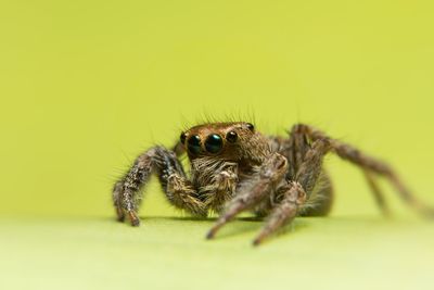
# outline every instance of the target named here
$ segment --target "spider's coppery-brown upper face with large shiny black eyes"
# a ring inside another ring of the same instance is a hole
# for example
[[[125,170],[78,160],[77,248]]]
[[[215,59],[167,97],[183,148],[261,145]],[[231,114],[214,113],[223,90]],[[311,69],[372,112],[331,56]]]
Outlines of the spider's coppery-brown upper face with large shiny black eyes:
[[[251,123],[212,123],[194,126],[180,136],[189,157],[218,156],[240,159],[240,149],[248,147],[257,133]]]

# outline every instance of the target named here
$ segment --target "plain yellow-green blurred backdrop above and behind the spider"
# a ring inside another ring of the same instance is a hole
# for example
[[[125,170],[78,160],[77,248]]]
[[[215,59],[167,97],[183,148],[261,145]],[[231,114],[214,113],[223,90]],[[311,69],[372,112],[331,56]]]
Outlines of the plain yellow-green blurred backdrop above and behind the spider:
[[[0,214],[111,217],[135,156],[206,114],[314,124],[434,203],[433,16],[431,1],[2,0]],[[328,161],[333,214],[378,216],[359,172]],[[153,181],[142,215],[182,214]]]

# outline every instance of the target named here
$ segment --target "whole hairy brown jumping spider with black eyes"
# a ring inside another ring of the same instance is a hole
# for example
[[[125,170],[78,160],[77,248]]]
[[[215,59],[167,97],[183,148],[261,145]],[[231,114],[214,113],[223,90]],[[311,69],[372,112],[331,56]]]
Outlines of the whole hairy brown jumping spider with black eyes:
[[[329,152],[359,166],[384,213],[387,206],[375,177],[386,177],[403,200],[422,214],[433,211],[419,202],[385,163],[330,138],[304,124],[292,127],[288,138],[266,136],[251,123],[212,123],[182,133],[173,150],[162,146],[139,155],[129,172],[115,184],[113,200],[119,220],[127,216],[138,226],[141,189],[155,173],[167,200],[194,216],[219,213],[207,238],[243,211],[266,216],[254,244],[297,215],[329,213],[333,190],[322,160]],[[189,176],[178,156],[187,153]]]

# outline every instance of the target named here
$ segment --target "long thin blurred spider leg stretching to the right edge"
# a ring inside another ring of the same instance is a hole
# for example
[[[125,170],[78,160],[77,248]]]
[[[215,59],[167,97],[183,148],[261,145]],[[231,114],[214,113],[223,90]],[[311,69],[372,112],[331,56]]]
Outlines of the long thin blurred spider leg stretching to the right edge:
[[[378,159],[374,159],[370,155],[362,153],[357,148],[344,143],[340,140],[330,138],[324,133],[304,124],[295,125],[295,128],[298,127],[299,130],[304,131],[309,136],[311,140],[318,139],[327,139],[331,143],[331,150],[335,152],[340,157],[347,160],[363,169],[368,169],[369,172],[375,173],[378,175],[382,175],[386,177],[390,182],[395,187],[399,197],[411,207],[417,210],[419,213],[434,217],[434,209],[426,206],[423,202],[418,200],[412,192],[405,186],[395,171],[385,162],[382,162]]]

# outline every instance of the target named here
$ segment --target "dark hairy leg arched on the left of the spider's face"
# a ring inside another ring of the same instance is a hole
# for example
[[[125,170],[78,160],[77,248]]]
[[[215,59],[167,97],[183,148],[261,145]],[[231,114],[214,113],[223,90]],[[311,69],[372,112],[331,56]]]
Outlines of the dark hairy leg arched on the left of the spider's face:
[[[193,215],[206,216],[206,207],[196,198],[196,191],[187,179],[175,152],[157,146],[137,157],[124,178],[115,184],[113,201],[119,220],[124,220],[127,215],[132,226],[140,224],[137,215],[141,200],[140,192],[151,173],[157,175],[163,191],[171,204]]]

